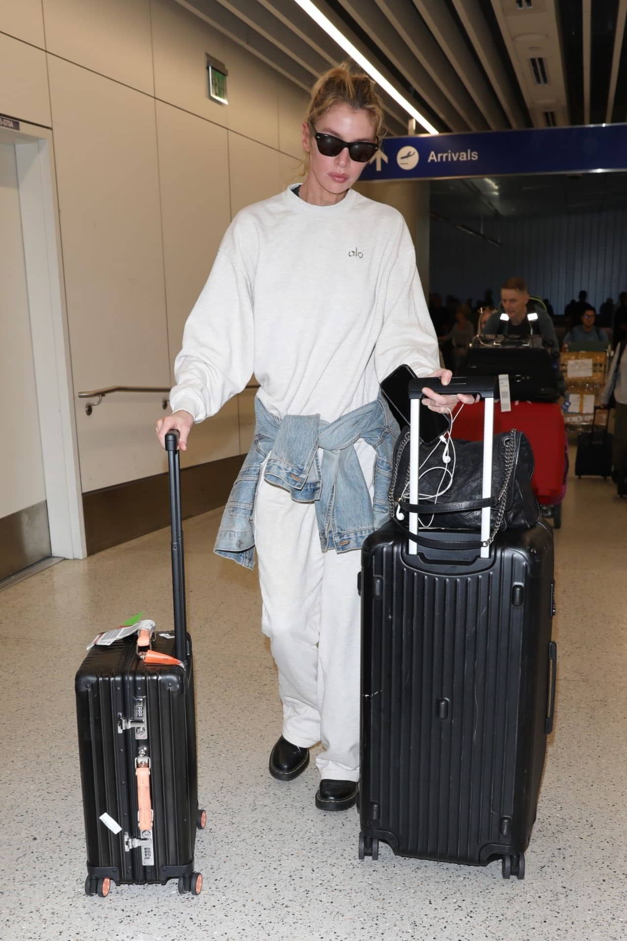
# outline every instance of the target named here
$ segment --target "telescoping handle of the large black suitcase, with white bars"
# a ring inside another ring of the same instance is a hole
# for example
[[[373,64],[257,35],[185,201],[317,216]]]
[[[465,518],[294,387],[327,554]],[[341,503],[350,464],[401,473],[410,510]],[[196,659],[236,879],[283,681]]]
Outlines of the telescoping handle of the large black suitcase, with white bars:
[[[409,438],[409,502],[414,505],[418,502],[418,479],[420,462],[418,451],[420,446],[420,400],[423,389],[431,389],[440,395],[478,395],[485,401],[483,417],[483,483],[481,498],[490,501],[492,498],[492,456],[494,443],[494,376],[453,376],[447,386],[439,379],[413,379],[409,384],[410,398],[410,438]],[[481,508],[481,550],[482,559],[490,557],[490,505]],[[409,515],[409,532],[418,534],[418,514]],[[409,553],[416,555],[418,551],[415,539],[409,540]]]

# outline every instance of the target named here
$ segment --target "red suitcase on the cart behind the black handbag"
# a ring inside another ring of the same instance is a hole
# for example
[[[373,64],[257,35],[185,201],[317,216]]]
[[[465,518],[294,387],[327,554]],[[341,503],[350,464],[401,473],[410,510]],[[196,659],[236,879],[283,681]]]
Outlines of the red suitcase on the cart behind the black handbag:
[[[564,416],[556,402],[512,402],[511,411],[502,412],[494,404],[494,434],[517,428],[533,451],[535,470],[531,484],[536,499],[552,509],[556,529],[561,525],[561,502],[566,493],[568,436]],[[455,418],[453,437],[479,441],[483,435],[483,403],[462,408]]]

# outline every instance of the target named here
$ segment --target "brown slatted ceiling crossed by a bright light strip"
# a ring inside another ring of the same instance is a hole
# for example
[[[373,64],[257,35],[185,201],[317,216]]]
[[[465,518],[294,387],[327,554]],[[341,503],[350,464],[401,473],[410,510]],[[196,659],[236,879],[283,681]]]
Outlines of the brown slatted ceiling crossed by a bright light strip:
[[[348,56],[295,0],[172,0],[299,88]],[[315,0],[439,131],[627,120],[627,0]],[[383,94],[391,135],[402,104]]]

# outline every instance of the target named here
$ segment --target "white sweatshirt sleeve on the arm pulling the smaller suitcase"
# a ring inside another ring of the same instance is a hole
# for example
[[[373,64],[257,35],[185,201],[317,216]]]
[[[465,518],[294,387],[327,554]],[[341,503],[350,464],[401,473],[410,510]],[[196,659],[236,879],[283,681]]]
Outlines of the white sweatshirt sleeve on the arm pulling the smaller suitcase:
[[[174,363],[170,405],[189,411],[196,422],[215,415],[253,374],[252,284],[233,230],[231,224],[187,318]]]

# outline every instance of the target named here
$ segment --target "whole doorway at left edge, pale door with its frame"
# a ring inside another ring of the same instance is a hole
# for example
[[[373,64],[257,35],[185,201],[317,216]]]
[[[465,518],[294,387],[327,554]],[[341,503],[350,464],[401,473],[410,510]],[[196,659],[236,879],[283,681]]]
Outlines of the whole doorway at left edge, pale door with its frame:
[[[52,134],[0,130],[0,584],[85,556]]]

